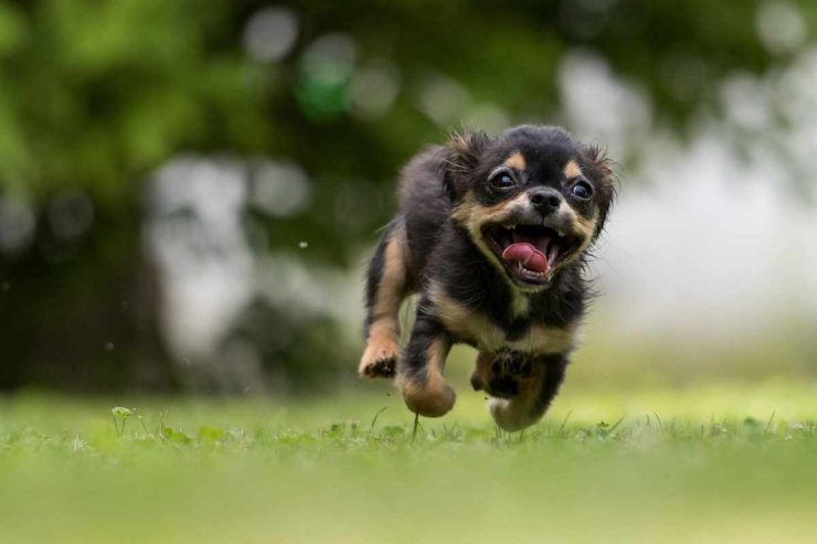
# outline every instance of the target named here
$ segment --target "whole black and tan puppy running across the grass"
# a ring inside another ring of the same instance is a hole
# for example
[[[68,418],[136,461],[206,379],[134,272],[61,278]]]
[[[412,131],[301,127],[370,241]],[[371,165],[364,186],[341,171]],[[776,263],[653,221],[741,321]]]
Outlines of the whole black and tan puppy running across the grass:
[[[497,424],[539,420],[576,344],[612,178],[603,152],[555,127],[455,136],[414,158],[369,268],[360,374],[396,375],[412,412],[442,416],[455,399],[445,360],[465,342],[480,352],[471,384],[494,397]],[[401,352],[397,311],[416,291]]]

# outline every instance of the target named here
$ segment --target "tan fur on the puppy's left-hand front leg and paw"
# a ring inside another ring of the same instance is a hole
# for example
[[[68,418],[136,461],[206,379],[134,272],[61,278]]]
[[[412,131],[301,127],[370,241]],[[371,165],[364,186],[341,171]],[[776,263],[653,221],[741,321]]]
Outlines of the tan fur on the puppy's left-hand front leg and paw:
[[[447,354],[447,342],[442,338],[434,340],[428,348],[425,381],[401,378],[400,388],[410,410],[424,417],[439,417],[454,407],[456,394],[443,377]]]

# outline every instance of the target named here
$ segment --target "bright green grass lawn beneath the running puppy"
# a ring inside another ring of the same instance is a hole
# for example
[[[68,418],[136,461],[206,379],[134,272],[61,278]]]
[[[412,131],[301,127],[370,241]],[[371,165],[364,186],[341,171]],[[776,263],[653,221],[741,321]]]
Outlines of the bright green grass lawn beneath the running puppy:
[[[817,538],[815,383],[569,382],[523,435],[459,391],[414,440],[376,385],[280,403],[10,397],[0,542]],[[115,406],[136,408],[121,434]]]

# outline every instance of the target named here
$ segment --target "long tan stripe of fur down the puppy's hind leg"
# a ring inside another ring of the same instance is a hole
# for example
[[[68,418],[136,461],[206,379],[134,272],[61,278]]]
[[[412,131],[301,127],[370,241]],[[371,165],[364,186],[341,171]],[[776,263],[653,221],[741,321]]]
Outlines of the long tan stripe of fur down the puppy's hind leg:
[[[378,286],[367,348],[358,365],[361,376],[391,377],[400,355],[400,305],[405,295],[405,228],[389,238]]]

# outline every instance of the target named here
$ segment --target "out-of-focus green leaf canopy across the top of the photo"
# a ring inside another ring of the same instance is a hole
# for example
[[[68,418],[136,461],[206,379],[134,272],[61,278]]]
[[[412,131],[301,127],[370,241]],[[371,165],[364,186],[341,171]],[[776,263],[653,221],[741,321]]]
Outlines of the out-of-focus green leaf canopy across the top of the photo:
[[[719,75],[762,72],[775,60],[757,40],[755,2],[300,1],[289,6],[300,22],[295,50],[263,63],[242,47],[247,19],[263,7],[3,3],[2,186],[42,200],[77,185],[120,205],[182,150],[284,156],[318,179],[379,182],[450,128],[417,110],[413,87],[428,74],[455,78],[513,119],[548,119],[560,56],[586,47],[648,90],[659,118],[683,120],[712,98]],[[800,9],[814,20],[814,4]],[[304,51],[327,33],[349,35],[358,51],[328,84],[303,70]],[[372,60],[393,64],[402,88],[386,115],[361,121],[348,115],[348,87]],[[679,94],[672,71],[689,64],[700,81]]]

